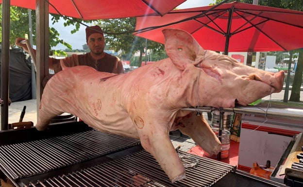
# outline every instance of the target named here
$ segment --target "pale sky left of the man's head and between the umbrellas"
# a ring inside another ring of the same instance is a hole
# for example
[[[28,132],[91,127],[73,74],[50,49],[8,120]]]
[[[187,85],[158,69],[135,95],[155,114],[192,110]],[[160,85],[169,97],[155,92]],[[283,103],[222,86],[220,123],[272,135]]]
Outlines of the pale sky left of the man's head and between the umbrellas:
[[[186,0],[184,3],[179,5],[177,8],[184,9],[184,8],[193,8],[193,7],[200,7],[200,6],[207,6],[209,3],[214,3],[215,0]],[[50,16],[51,18],[51,16]],[[59,38],[63,39],[65,42],[69,43],[72,46],[73,50],[83,49],[83,45],[86,43],[85,39],[85,26],[81,25],[80,30],[74,34],[71,34],[70,31],[72,27],[64,27],[64,21],[61,20],[58,23],[50,25],[54,27],[60,34]],[[51,24],[51,21],[50,21]],[[69,29],[70,28],[70,29]],[[65,50],[66,47],[63,45],[57,45],[56,47],[52,47],[52,50]]]

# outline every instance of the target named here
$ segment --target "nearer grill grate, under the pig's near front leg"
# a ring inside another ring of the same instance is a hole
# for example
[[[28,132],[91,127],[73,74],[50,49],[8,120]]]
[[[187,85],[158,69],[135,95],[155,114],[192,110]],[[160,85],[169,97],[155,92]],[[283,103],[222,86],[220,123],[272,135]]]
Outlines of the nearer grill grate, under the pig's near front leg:
[[[146,151],[129,154],[83,170],[58,177],[32,181],[24,187],[210,187],[234,166],[179,151],[186,168],[186,179],[171,183],[158,162]],[[192,159],[194,158],[194,159]],[[188,163],[190,162],[190,163]]]

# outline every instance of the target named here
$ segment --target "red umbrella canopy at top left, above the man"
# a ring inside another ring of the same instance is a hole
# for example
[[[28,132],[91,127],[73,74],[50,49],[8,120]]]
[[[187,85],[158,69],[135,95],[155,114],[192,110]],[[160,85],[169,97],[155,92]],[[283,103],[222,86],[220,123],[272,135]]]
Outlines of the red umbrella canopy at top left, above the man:
[[[49,0],[50,13],[84,20],[159,15],[185,0]],[[0,0],[2,3],[2,0]],[[11,5],[35,9],[36,0],[11,0]],[[59,13],[58,13],[59,12]]]

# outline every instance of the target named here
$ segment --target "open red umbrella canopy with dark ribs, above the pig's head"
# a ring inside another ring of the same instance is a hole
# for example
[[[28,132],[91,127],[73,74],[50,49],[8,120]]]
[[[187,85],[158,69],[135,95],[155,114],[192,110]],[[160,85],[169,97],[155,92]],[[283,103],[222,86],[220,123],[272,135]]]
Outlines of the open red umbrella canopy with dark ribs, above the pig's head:
[[[137,17],[137,36],[164,43],[162,30],[192,34],[207,50],[290,51],[303,48],[303,12],[240,2],[173,10],[163,17]]]

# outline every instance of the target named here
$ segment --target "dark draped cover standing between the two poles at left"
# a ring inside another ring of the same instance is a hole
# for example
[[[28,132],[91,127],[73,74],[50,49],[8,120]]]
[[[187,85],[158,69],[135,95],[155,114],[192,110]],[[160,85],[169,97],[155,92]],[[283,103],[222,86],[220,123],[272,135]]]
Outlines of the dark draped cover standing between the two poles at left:
[[[31,100],[32,99],[31,61],[26,60],[26,56],[21,49],[12,49],[10,50],[9,63],[10,63],[9,64],[9,98],[11,99],[12,102]]]

